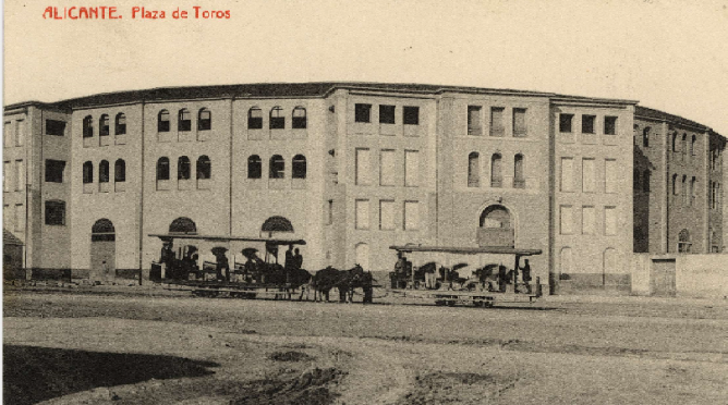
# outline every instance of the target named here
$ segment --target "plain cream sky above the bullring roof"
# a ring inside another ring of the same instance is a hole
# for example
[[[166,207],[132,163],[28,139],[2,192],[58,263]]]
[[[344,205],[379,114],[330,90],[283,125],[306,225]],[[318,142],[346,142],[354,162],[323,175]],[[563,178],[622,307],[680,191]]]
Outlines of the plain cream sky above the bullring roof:
[[[44,20],[49,5],[119,20]],[[165,19],[132,19],[132,8]],[[195,19],[201,10],[230,19]],[[189,19],[173,19],[175,10]],[[639,100],[728,135],[728,0],[8,0],[3,103],[260,82],[389,82]],[[159,15],[159,14],[158,14]]]

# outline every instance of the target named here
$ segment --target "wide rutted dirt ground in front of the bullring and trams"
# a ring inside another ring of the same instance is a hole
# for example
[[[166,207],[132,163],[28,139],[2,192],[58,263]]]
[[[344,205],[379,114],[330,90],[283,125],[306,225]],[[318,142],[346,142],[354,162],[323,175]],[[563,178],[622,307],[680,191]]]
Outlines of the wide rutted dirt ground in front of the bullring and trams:
[[[483,309],[7,289],[4,403],[728,404],[725,300],[549,298]]]

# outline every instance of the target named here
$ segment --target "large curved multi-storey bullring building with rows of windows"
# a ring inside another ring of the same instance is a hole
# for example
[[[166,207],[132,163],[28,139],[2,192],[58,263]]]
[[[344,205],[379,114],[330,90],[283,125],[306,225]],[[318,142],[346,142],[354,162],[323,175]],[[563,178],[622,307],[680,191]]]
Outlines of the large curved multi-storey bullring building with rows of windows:
[[[633,251],[723,250],[724,149],[636,101],[537,91],[302,83],[28,101],[4,108],[3,228],[33,274],[148,274],[154,234],[284,233],[312,270],[389,271],[389,246],[409,243],[508,246],[542,250],[544,283],[619,284]]]

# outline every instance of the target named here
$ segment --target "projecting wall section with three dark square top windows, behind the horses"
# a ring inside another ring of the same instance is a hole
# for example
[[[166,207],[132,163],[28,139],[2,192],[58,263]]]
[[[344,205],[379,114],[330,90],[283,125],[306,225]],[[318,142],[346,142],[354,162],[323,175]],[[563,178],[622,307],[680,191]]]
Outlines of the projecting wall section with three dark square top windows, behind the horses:
[[[355,121],[357,103],[372,106],[369,122]],[[379,106],[395,106],[395,124],[379,122]],[[418,108],[417,125],[403,124],[405,106]],[[365,268],[368,265],[371,270],[390,270],[397,258],[389,246],[426,244],[432,241],[433,230],[426,219],[435,210],[429,198],[435,193],[437,161],[434,149],[437,116],[435,101],[428,97],[344,93],[338,96],[336,113],[336,136],[340,139],[336,149],[337,187],[345,210],[339,212],[344,217],[343,232],[339,236],[345,242],[338,244],[337,248],[343,247],[345,251],[342,260],[344,268],[360,263]],[[368,154],[368,169],[362,161],[357,161],[357,150],[367,150],[364,154]],[[385,155],[391,154],[391,164],[383,162],[383,151]],[[417,154],[416,179],[410,185],[405,184],[405,151]],[[391,173],[391,181],[385,179],[387,173]],[[361,201],[368,205],[368,221],[364,224],[360,218],[357,228],[356,206]],[[393,207],[391,226],[388,226],[388,216],[383,222],[383,201],[385,206],[391,204]],[[408,229],[404,224],[404,206],[408,201],[417,205],[414,229]]]

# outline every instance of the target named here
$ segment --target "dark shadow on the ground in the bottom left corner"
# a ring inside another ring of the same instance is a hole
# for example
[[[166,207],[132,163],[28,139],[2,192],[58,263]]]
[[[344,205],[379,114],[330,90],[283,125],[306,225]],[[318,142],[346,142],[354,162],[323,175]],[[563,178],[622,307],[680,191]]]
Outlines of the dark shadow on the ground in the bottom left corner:
[[[173,356],[3,345],[3,403],[35,404],[99,386],[204,377],[216,363]]]

